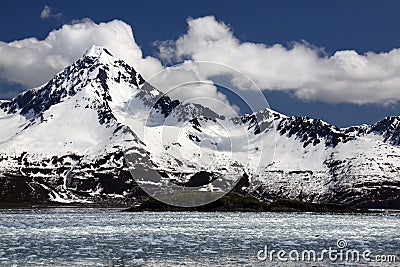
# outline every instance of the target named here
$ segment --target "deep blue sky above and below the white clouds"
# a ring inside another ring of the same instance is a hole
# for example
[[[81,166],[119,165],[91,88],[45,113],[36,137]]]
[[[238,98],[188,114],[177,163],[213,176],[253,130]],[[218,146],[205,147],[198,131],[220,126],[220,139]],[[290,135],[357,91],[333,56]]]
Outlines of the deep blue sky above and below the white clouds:
[[[45,5],[62,20],[39,18]],[[186,32],[188,17],[214,15],[229,24],[241,41],[282,43],[302,39],[328,54],[354,49],[389,51],[400,46],[400,1],[1,1],[1,41],[42,39],[73,19],[95,22],[122,19],[132,25],[145,55],[154,55],[157,40],[176,39]],[[0,82],[1,86],[6,85]],[[288,115],[319,117],[338,126],[372,123],[400,115],[400,105],[381,107],[305,103],[290,94],[266,92],[272,108]]]

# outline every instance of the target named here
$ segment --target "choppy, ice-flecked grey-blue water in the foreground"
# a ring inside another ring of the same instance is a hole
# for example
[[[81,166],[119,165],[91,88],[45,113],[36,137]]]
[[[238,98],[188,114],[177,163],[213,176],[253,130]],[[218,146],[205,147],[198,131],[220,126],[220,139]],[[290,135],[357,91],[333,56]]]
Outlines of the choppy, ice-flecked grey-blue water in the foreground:
[[[396,255],[397,262],[257,258],[265,246],[319,252],[338,249],[338,239],[344,249]],[[0,266],[400,266],[399,256],[399,213],[0,210]]]

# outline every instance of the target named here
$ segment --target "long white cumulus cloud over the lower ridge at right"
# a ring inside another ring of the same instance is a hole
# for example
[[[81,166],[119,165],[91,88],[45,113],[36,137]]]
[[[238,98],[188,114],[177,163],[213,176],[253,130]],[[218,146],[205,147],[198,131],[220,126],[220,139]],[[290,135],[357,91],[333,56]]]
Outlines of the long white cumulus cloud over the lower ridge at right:
[[[400,100],[400,49],[366,54],[346,50],[328,56],[305,42],[290,46],[240,42],[228,25],[213,16],[190,18],[187,23],[183,36],[158,44],[161,59],[223,63],[262,89],[291,90],[303,100],[355,104]],[[202,69],[202,75],[229,74],[229,69],[221,71]],[[242,90],[255,89],[246,79],[233,82]]]

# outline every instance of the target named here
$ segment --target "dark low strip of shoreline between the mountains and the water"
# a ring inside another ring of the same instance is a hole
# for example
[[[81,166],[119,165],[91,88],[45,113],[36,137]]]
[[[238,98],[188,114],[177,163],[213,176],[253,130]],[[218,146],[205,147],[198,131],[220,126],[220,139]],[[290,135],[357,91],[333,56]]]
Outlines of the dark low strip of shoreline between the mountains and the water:
[[[133,205],[132,203],[0,203],[1,210],[19,209],[113,209],[121,212],[308,212],[336,214],[400,213],[399,209],[357,208],[338,203],[313,203],[281,199],[263,202],[251,196],[229,193],[212,203],[197,207],[176,207],[154,198]]]

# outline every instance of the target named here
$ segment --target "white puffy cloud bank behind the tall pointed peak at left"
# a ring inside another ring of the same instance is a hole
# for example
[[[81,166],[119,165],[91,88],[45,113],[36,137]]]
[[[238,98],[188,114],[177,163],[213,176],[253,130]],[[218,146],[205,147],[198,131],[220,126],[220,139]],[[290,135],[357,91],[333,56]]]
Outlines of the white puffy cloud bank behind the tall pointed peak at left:
[[[49,16],[46,12],[50,11],[44,9],[42,13],[45,17]],[[0,41],[0,79],[20,84],[25,88],[39,86],[79,59],[92,45],[107,47],[114,56],[125,60],[145,79],[164,69],[158,59],[143,56],[130,25],[120,20],[96,24],[90,19],[82,19],[51,31],[44,40],[27,38],[10,43]],[[167,73],[169,72],[162,74]],[[180,84],[182,76],[185,76],[186,81],[188,79],[198,81],[201,78],[190,71],[181,72],[181,74],[169,75],[165,80],[158,79],[156,85],[161,90],[168,91],[171,86]],[[156,80],[153,77],[152,81]],[[214,85],[205,83],[173,90],[171,94],[184,101],[206,96],[229,104],[226,97],[218,93]],[[0,95],[9,97],[10,93],[0,92]],[[210,101],[204,101],[204,99],[198,99],[195,102],[201,102],[211,108],[215,107]]]

